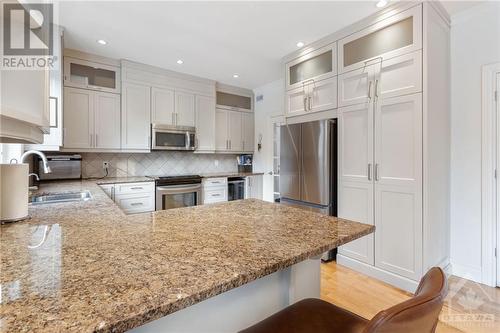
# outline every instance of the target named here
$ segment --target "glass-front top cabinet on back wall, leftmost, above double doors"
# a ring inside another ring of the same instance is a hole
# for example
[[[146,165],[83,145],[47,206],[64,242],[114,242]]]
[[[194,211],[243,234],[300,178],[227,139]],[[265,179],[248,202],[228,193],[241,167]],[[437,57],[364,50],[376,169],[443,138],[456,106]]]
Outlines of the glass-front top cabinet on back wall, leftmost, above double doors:
[[[77,51],[74,51],[75,53]],[[74,88],[99,90],[120,93],[120,67],[99,62],[99,59],[88,57],[78,52],[76,56],[64,57],[64,85]],[[97,57],[95,57],[97,58]]]

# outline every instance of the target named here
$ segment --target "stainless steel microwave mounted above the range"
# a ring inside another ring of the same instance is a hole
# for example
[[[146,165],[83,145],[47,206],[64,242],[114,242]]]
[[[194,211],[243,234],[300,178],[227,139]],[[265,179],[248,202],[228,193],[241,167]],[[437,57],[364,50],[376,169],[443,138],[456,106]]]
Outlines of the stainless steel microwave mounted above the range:
[[[151,149],[195,150],[196,128],[153,124],[151,126]]]

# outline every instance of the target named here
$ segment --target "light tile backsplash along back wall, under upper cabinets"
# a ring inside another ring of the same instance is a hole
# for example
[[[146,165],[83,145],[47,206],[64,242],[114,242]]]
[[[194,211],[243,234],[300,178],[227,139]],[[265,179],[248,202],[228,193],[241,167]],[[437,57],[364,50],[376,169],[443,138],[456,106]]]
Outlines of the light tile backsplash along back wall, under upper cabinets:
[[[102,163],[109,162],[110,177],[236,172],[236,155],[192,152],[82,153],[83,178],[102,177]]]

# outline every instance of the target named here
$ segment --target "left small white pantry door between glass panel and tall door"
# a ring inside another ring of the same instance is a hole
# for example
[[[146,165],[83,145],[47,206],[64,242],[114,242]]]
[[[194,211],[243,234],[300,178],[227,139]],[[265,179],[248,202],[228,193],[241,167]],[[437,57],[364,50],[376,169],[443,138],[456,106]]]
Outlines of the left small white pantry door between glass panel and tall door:
[[[371,65],[339,75],[339,107],[370,103],[376,70],[376,65]]]

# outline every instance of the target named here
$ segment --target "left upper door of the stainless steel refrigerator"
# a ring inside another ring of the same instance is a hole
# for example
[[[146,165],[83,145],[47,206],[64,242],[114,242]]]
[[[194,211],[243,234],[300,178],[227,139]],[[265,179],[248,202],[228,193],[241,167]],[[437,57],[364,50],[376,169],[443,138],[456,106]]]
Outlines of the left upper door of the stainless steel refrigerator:
[[[301,125],[284,125],[280,132],[281,197],[300,200]]]

